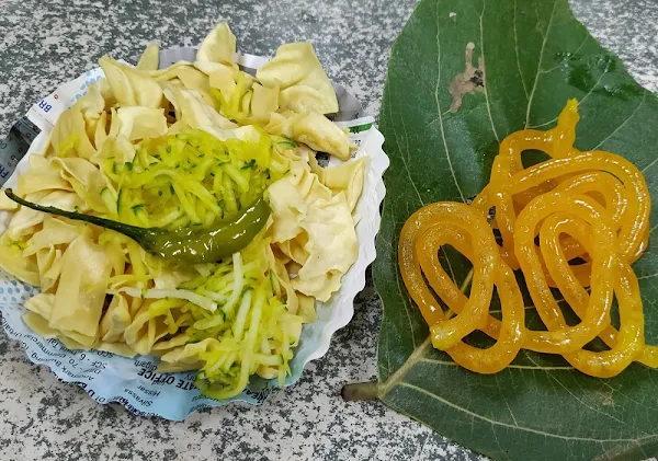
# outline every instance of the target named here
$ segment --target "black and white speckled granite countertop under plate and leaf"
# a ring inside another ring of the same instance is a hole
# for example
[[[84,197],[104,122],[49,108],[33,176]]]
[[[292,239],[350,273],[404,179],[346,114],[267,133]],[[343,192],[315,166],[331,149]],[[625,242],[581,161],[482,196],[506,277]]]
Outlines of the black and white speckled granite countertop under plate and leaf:
[[[438,0],[439,1],[439,0]],[[104,54],[134,56],[150,39],[195,45],[219,19],[238,47],[272,55],[311,39],[330,78],[377,114],[393,39],[415,0],[2,0],[0,132],[29,105]],[[602,3],[605,3],[602,5]],[[653,0],[571,0],[576,15],[658,90],[658,4]],[[347,382],[374,380],[381,306],[372,284],[352,323],[302,380],[260,407],[232,404],[183,423],[141,418],[100,405],[32,365],[0,331],[2,460],[470,460],[476,454],[373,402],[345,403]],[[0,329],[1,330],[1,329]]]

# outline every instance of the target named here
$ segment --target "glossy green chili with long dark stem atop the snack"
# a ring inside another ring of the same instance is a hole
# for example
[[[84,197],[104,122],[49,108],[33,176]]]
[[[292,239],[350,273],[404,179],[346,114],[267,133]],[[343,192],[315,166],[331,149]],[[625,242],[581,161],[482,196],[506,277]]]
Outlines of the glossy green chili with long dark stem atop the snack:
[[[135,240],[150,254],[191,264],[214,263],[242,250],[265,226],[270,216],[270,206],[263,198],[259,198],[232,221],[211,229],[139,228],[98,216],[33,204],[18,197],[10,188],[4,189],[4,193],[10,199],[27,208],[111,229]]]

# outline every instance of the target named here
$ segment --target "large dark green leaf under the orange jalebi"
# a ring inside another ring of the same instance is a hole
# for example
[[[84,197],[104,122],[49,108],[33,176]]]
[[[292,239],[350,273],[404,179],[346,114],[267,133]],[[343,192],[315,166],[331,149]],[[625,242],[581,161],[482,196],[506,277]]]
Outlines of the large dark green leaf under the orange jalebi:
[[[485,91],[465,94],[449,112],[450,84],[465,70],[468,43],[473,65],[484,60]],[[644,171],[656,199],[658,99],[574,19],[567,0],[423,0],[393,47],[381,113],[390,169],[373,269],[384,304],[378,395],[495,459],[633,460],[658,452],[657,371],[634,364],[601,380],[561,357],[522,351],[498,374],[469,372],[431,347],[399,277],[397,235],[409,215],[477,194],[499,141],[526,126],[551,128],[569,97],[580,101],[577,147],[625,155]],[[442,256],[463,283],[467,264]],[[635,270],[647,343],[658,344],[653,241]]]

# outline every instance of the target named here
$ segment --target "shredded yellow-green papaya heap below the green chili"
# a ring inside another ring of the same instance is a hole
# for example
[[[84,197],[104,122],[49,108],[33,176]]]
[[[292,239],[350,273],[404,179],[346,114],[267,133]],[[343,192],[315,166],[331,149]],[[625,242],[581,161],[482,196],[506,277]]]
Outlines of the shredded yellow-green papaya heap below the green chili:
[[[219,304],[214,312],[190,304],[186,347],[211,339],[198,354],[203,366],[195,380],[205,395],[235,396],[257,371],[277,378],[281,385],[290,373],[303,318],[288,310],[294,300],[277,288],[270,256],[270,242],[257,239],[241,253],[213,265],[208,277],[181,286]],[[169,359],[178,357],[162,357],[164,364]]]

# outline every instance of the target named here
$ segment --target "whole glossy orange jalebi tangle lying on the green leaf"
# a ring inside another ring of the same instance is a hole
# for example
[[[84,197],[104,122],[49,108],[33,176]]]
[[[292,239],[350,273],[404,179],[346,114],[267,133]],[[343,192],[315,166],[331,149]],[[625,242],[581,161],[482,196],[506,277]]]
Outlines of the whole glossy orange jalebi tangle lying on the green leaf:
[[[600,378],[619,374],[634,360],[658,367],[658,348],[645,345],[643,303],[632,268],[648,242],[647,185],[624,158],[576,149],[578,119],[577,102],[569,100],[555,128],[508,136],[489,184],[470,205],[428,205],[402,228],[400,273],[430,326],[432,345],[469,370],[498,372],[521,348],[560,354],[578,370]],[[549,160],[524,168],[525,150],[543,151]],[[473,263],[468,297],[441,265],[438,251],[443,245]],[[518,269],[546,331],[525,327]],[[489,313],[494,288],[502,320]],[[567,323],[552,288],[579,323]],[[619,331],[611,325],[614,298]],[[496,344],[483,349],[463,342],[476,330]],[[597,337],[609,350],[585,348]]]

